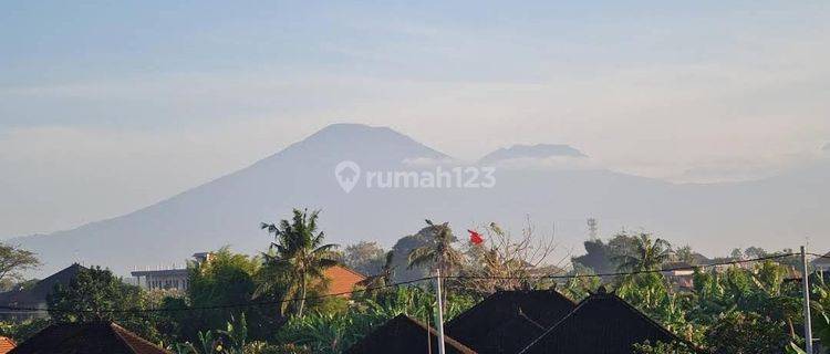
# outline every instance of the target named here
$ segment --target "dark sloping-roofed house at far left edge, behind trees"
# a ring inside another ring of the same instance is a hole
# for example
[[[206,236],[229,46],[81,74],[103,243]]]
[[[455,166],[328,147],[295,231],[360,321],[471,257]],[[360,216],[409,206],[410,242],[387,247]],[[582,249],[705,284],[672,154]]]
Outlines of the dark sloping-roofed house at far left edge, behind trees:
[[[0,305],[9,308],[27,308],[27,309],[43,309],[46,306],[46,295],[51,293],[55,285],[69,285],[70,281],[77,277],[81,269],[84,269],[81,264],[74,263],[63,270],[49,275],[48,278],[34,283],[34,285],[27,289],[17,289],[0,293]],[[12,313],[7,316],[12,317],[33,317],[33,316],[45,316],[45,312],[21,312]]]

